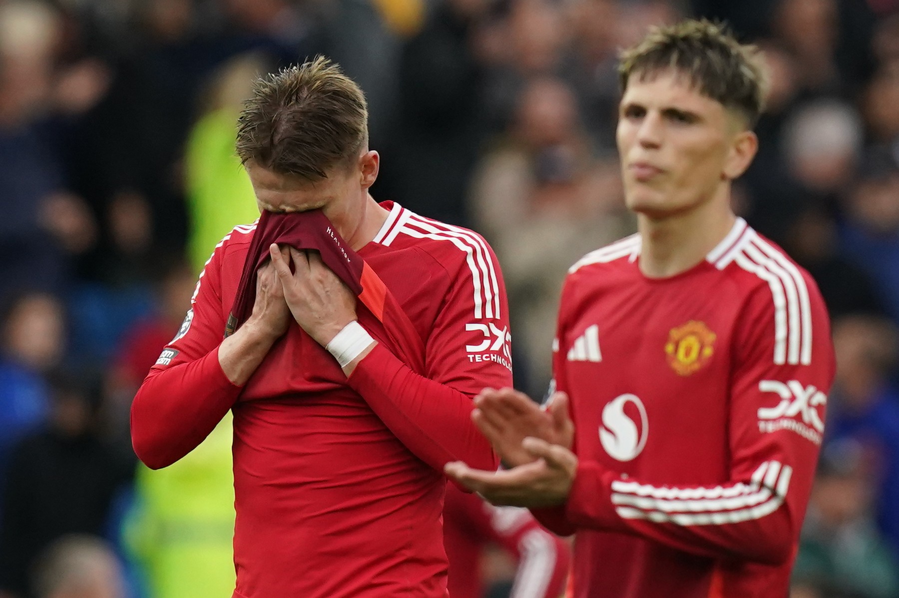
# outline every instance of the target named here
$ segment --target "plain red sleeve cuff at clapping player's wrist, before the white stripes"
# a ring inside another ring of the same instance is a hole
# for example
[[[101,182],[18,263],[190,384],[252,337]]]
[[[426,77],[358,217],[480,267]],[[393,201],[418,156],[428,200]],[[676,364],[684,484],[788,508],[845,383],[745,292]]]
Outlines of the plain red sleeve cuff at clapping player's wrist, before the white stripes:
[[[581,460],[565,504],[565,516],[576,527],[621,529],[621,519],[611,503],[615,474],[595,461]]]

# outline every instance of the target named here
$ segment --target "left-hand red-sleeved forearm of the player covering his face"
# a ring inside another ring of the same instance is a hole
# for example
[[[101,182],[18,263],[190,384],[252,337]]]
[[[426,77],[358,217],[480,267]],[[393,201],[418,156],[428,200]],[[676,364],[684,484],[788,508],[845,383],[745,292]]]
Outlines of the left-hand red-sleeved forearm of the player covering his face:
[[[241,387],[218,363],[218,347],[195,361],[150,370],[131,405],[131,442],[150,469],[195,449],[234,405]]]

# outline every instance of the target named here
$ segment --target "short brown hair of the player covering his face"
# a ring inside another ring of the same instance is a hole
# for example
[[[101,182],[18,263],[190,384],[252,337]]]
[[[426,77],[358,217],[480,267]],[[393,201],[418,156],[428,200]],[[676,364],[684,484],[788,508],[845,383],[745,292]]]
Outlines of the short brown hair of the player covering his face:
[[[323,57],[258,79],[237,119],[241,162],[310,181],[352,164],[368,144],[365,95]]]

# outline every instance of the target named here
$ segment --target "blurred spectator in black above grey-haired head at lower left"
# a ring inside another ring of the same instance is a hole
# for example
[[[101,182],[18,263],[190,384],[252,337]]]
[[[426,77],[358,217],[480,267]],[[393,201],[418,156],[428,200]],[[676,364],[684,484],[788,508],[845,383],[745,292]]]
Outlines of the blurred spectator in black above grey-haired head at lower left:
[[[0,589],[18,596],[29,595],[30,567],[50,542],[107,530],[113,499],[133,472],[131,460],[98,437],[99,384],[56,374],[51,385],[49,426],[13,448],[2,497]]]

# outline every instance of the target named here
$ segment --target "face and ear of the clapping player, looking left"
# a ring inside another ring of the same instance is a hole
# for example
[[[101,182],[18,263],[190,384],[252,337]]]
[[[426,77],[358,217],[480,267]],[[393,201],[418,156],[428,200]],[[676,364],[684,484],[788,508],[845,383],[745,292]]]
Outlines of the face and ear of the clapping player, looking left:
[[[631,76],[616,133],[628,208],[663,217],[721,196],[754,155],[752,133],[741,129],[739,117],[687,76]]]

